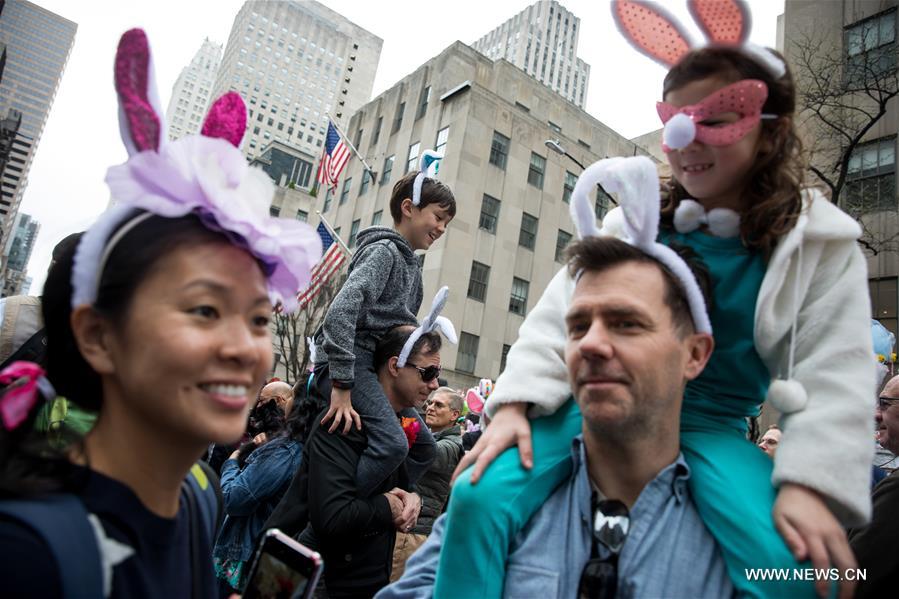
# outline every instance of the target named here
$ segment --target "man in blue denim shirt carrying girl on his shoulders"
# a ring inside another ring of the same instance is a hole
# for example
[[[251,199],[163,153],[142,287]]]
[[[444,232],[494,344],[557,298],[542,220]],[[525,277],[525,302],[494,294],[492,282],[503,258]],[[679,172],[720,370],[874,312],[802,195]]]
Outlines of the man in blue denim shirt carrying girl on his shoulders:
[[[684,387],[705,367],[712,338],[696,332],[681,283],[656,259],[611,238],[569,251],[577,283],[565,362],[582,434],[570,478],[510,547],[503,594],[731,597],[679,449]],[[380,599],[431,595],[445,519]]]

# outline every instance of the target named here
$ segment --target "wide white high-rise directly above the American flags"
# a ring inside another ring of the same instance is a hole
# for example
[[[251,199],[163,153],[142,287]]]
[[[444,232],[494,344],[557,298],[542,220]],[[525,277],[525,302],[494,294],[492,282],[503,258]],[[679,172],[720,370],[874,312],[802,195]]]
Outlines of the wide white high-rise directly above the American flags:
[[[234,18],[213,96],[234,90],[246,101],[249,158],[272,142],[318,156],[327,115],[345,123],[371,98],[382,44],[314,0],[248,0]]]

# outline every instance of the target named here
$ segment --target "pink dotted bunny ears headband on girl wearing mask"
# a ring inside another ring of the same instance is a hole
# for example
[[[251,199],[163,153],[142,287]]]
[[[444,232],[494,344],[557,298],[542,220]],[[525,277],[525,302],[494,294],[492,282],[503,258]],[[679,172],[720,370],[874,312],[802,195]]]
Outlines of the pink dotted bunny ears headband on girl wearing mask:
[[[709,45],[737,46],[775,78],[786,73],[783,60],[748,41],[752,18],[743,0],[687,0],[687,7]],[[612,15],[637,51],[669,69],[690,50],[704,45],[691,40],[678,20],[658,3],[614,0]]]

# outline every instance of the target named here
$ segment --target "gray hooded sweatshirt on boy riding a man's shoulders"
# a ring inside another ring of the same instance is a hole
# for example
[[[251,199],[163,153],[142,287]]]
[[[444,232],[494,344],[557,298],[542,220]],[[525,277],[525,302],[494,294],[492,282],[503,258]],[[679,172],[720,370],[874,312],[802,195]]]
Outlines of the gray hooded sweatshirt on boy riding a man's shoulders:
[[[354,380],[354,346],[374,352],[390,329],[418,326],[422,300],[418,257],[402,235],[388,227],[369,227],[356,240],[349,277],[315,339],[316,362],[327,362],[331,379],[338,381]]]

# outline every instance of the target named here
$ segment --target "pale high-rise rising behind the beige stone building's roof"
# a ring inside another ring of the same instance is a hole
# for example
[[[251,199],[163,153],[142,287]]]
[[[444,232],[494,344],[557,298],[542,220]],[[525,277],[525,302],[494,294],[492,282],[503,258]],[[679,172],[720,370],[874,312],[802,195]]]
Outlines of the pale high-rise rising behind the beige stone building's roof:
[[[580,23],[556,0],[538,0],[472,47],[491,60],[508,60],[583,108],[590,65],[577,57]]]

